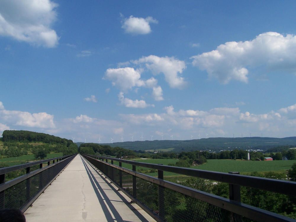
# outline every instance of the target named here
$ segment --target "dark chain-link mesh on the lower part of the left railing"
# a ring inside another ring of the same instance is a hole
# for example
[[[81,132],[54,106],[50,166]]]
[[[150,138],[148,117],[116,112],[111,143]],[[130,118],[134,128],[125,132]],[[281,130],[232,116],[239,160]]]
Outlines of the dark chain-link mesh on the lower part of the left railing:
[[[69,157],[0,192],[0,209],[20,209],[25,206],[36,194],[46,187],[73,158],[74,157]]]

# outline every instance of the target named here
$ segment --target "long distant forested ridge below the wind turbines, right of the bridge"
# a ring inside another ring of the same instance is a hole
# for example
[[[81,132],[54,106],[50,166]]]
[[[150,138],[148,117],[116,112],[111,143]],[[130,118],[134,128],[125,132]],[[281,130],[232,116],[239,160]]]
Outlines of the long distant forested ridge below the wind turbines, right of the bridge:
[[[223,149],[270,149],[278,146],[295,146],[296,137],[270,138],[270,137],[238,137],[238,138],[208,138],[193,140],[153,140],[153,141],[127,141],[115,142],[104,145],[123,147],[132,150],[168,149],[174,152]]]

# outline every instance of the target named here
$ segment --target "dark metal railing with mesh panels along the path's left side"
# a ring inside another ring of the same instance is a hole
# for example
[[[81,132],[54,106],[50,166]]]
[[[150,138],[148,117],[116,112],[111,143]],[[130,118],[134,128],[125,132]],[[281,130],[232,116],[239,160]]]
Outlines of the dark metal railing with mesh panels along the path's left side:
[[[0,168],[0,209],[18,208],[22,212],[39,197],[64,168],[76,156],[67,155],[47,160]],[[43,166],[47,163],[46,166]],[[31,168],[36,168],[31,172]],[[13,171],[24,171],[22,176],[5,181],[5,175]]]

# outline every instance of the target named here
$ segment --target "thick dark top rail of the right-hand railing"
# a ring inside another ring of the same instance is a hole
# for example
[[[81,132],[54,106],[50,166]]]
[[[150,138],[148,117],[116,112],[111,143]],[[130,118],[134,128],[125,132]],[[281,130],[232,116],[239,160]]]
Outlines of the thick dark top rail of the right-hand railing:
[[[131,165],[152,168],[155,170],[163,170],[171,173],[178,173],[187,176],[194,176],[199,178],[204,178],[213,181],[219,181],[228,184],[234,184],[239,186],[246,186],[250,188],[271,191],[279,194],[285,194],[290,196],[296,196],[296,182],[285,181],[278,179],[270,179],[256,176],[246,176],[239,174],[230,174],[230,173],[221,173],[210,170],[197,170],[190,168],[182,168],[175,166],[159,165],[152,163],[141,163],[137,161],[122,160],[117,158],[102,157],[102,156],[93,156],[94,159],[107,159],[112,161],[118,161],[121,163],[128,163]]]

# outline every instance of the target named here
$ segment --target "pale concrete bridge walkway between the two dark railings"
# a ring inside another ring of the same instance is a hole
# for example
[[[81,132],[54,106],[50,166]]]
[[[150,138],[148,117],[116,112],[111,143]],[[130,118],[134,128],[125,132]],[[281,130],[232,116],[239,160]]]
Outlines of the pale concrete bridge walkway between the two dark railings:
[[[155,221],[83,157],[77,155],[25,211],[28,222]]]

